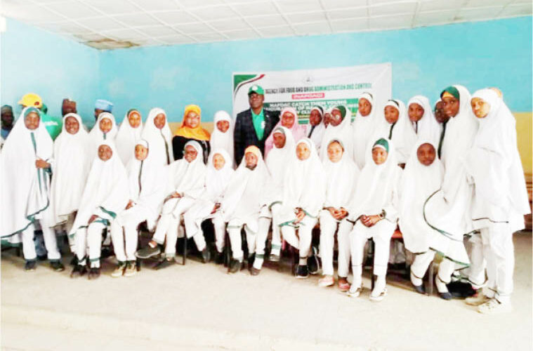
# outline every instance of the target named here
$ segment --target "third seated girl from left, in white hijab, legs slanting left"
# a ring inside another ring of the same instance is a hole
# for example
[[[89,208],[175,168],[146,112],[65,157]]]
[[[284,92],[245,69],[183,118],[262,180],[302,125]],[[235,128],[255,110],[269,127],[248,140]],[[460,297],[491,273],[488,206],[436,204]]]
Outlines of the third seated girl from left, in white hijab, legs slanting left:
[[[204,191],[206,165],[202,156],[204,152],[202,146],[197,141],[190,140],[185,144],[184,149],[183,159],[173,161],[168,167],[167,196],[164,199],[154,237],[145,249],[136,253],[138,258],[150,258],[159,255],[166,242],[165,257],[159,261],[156,266],[157,269],[171,264],[174,256],[176,256],[176,241],[178,241],[181,215],[195,203]],[[156,157],[159,156],[159,154],[156,155]],[[161,159],[155,159],[154,162],[160,164]],[[191,237],[192,234],[195,233],[187,233],[187,237]],[[197,246],[201,246],[202,242],[198,239],[198,236],[195,236],[195,243]],[[202,247],[199,249],[202,250]],[[204,260],[209,260],[209,250],[206,247],[202,250],[202,256]]]

